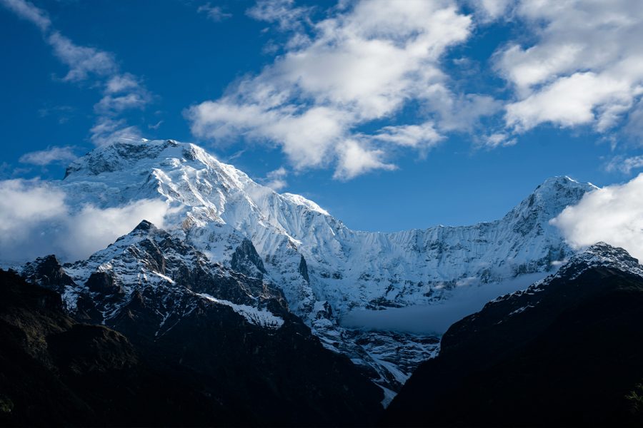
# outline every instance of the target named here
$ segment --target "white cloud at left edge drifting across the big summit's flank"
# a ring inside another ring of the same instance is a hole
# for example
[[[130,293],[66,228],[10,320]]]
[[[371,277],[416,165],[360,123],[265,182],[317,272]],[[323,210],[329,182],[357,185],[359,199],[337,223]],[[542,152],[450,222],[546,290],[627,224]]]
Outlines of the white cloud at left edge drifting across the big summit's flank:
[[[160,200],[74,208],[62,190],[48,183],[0,181],[0,260],[23,263],[48,254],[64,261],[84,259],[131,232],[141,220],[162,228],[168,212]]]

